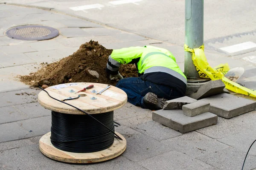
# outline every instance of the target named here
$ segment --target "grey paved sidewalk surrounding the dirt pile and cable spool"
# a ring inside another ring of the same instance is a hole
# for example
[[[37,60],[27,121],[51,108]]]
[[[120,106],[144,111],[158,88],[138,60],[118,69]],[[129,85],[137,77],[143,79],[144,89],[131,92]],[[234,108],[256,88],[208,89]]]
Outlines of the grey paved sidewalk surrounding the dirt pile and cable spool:
[[[122,126],[116,131],[127,139],[125,153],[96,164],[67,164],[44,156],[38,148],[42,135],[51,127],[50,111],[37,102],[37,88],[29,88],[17,75],[37,71],[41,62],[54,62],[73,54],[90,40],[106,48],[154,45],[171,51],[184,69],[183,47],[151,40],[137,34],[108,28],[87,20],[38,8],[0,4],[0,170],[237,170],[241,169],[250,144],[256,139],[255,111],[233,119],[218,117],[218,124],[190,133],[179,133],[152,121],[151,111],[130,103],[115,111]],[[4,31],[17,25],[39,24],[60,31],[52,40],[22,41],[6,37]],[[256,65],[240,56],[226,57],[206,50],[212,66],[228,62],[244,67],[239,80],[255,89]],[[252,147],[244,169],[256,168],[256,149]]]

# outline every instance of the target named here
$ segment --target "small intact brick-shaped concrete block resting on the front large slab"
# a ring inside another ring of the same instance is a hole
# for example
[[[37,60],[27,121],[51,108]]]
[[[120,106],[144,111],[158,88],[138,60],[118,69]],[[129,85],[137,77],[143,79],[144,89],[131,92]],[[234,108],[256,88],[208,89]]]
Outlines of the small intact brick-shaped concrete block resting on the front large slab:
[[[209,112],[210,103],[204,101],[197,101],[187,105],[182,106],[182,110],[186,116],[196,116],[201,113]]]

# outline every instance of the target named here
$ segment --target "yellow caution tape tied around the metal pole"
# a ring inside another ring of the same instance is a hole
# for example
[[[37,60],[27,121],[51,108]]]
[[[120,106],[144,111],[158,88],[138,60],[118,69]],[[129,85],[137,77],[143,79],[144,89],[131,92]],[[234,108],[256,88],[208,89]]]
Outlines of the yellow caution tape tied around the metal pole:
[[[212,68],[204,54],[204,45],[199,48],[189,48],[188,45],[184,44],[184,50],[192,53],[192,61],[195,65],[198,74],[202,78],[210,78],[211,80],[221,79],[226,85],[226,88],[235,93],[244,94],[247,96],[256,97],[256,91],[253,89],[245,88],[235,82],[224,77],[229,71],[228,64],[220,64]]]

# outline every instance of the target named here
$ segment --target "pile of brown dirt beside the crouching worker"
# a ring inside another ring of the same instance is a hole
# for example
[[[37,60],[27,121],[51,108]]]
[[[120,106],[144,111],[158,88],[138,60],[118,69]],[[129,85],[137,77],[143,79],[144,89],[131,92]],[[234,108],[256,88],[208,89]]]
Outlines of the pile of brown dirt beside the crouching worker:
[[[108,79],[105,71],[108,56],[112,51],[99,45],[98,42],[86,42],[74,54],[58,62],[47,64],[35,73],[21,76],[20,81],[32,86],[58,85],[67,82],[98,82],[116,85],[116,82]],[[137,77],[134,64],[121,65],[119,72],[123,77]]]

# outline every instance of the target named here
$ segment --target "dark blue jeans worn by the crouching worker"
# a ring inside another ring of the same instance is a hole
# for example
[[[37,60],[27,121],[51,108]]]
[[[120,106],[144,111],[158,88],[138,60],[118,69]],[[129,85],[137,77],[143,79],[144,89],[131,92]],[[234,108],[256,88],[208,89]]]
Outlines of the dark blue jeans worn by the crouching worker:
[[[158,98],[165,98],[168,100],[182,97],[172,88],[165,85],[158,85],[152,82],[144,81],[140,77],[129,77],[119,80],[116,87],[121,88],[128,96],[128,102],[141,108],[147,108],[143,104],[143,97],[152,92],[157,95]]]

